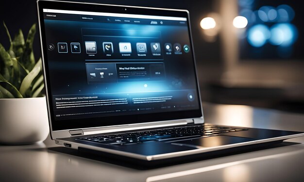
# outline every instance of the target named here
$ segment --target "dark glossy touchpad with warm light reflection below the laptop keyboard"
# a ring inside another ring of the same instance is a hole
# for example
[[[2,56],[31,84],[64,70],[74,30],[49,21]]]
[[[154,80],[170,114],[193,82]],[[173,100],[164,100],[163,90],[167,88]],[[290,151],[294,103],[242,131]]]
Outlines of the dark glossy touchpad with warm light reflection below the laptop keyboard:
[[[174,141],[173,145],[186,146],[201,146],[201,147],[216,147],[220,145],[228,145],[234,143],[242,143],[246,141],[253,141],[253,138],[237,137],[237,136],[211,136],[204,138],[196,138],[182,141]]]

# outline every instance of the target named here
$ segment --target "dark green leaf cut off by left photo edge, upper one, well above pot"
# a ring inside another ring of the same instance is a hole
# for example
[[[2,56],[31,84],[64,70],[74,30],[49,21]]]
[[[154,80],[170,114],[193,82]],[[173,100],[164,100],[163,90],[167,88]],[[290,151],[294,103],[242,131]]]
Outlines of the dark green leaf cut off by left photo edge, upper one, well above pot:
[[[0,74],[8,81],[13,77],[13,61],[0,44]]]

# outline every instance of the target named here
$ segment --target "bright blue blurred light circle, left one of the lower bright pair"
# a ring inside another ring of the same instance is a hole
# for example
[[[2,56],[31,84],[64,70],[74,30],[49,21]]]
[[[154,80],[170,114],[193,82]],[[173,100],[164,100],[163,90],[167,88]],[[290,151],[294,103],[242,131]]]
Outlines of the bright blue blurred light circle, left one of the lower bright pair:
[[[248,42],[254,47],[261,47],[270,38],[270,30],[267,26],[258,24],[248,30]]]

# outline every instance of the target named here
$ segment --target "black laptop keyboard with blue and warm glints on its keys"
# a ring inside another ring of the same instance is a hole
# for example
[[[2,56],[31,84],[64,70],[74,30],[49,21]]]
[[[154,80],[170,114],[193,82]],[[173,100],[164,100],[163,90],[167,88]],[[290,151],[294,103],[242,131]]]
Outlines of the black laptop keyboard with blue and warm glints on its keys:
[[[172,141],[177,139],[186,139],[188,137],[218,136],[222,133],[243,130],[247,129],[216,125],[195,125],[115,135],[88,136],[77,139],[108,145],[132,145],[150,141]]]

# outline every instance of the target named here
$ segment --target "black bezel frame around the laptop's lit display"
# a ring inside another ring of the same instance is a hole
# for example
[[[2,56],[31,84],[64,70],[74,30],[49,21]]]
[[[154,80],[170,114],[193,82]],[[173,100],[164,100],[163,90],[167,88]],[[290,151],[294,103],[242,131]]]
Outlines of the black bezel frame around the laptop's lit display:
[[[94,128],[102,126],[113,126],[123,124],[135,124],[143,122],[153,121],[172,121],[181,119],[200,118],[203,116],[201,96],[198,85],[198,78],[196,74],[197,93],[199,98],[199,109],[185,110],[185,111],[174,111],[174,112],[162,112],[162,113],[150,113],[150,114],[133,114],[133,115],[122,115],[122,116],[107,116],[107,117],[95,117],[89,119],[70,119],[65,121],[55,121],[53,114],[53,103],[51,101],[51,88],[49,79],[49,68],[48,68],[48,57],[47,57],[47,44],[45,39],[45,25],[43,9],[58,9],[58,10],[72,10],[72,11],[89,11],[89,12],[103,12],[103,13],[118,13],[118,14],[138,14],[138,15],[159,15],[159,16],[173,16],[173,17],[186,17],[188,23],[189,39],[192,46],[193,65],[196,71],[189,13],[186,10],[169,10],[169,9],[158,9],[158,8],[145,8],[145,7],[131,7],[131,6],[119,6],[119,5],[105,5],[105,4],[92,4],[92,3],[75,3],[75,2],[64,2],[64,1],[37,1],[38,5],[38,16],[40,26],[40,38],[42,46],[42,57],[43,57],[43,68],[44,77],[47,93],[47,105],[50,120],[51,131],[59,130],[72,130],[82,128]]]

